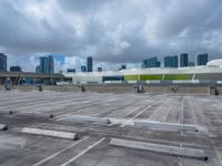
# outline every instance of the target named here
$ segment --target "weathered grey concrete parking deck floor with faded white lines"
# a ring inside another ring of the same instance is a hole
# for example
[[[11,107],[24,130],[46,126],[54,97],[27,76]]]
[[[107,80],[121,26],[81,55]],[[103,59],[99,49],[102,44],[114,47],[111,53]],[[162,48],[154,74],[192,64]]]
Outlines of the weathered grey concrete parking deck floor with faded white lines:
[[[0,92],[0,165],[220,166],[222,97],[188,94]],[[9,112],[13,114],[9,114]],[[53,118],[49,118],[53,114]],[[69,115],[109,117],[111,124],[74,123]],[[133,121],[192,124],[202,132],[135,128]],[[74,132],[78,141],[21,133],[22,127]],[[109,145],[123,138],[204,149],[209,160]]]

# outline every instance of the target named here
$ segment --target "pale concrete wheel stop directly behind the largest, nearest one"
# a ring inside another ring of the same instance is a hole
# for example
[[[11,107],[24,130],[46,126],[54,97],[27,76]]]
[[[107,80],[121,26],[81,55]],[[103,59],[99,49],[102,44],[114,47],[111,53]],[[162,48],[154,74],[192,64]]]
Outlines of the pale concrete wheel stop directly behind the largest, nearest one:
[[[143,128],[163,129],[163,131],[190,131],[199,132],[200,127],[195,125],[157,123],[157,122],[134,122],[134,126]]]

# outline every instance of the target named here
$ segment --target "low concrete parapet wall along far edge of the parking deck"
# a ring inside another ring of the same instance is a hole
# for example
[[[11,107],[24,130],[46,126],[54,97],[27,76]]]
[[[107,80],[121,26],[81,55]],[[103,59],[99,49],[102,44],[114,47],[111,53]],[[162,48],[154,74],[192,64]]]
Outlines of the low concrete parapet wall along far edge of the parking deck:
[[[0,85],[0,89],[4,87]],[[42,85],[42,91],[58,92],[99,92],[99,93],[137,93],[137,85],[109,84],[109,85]],[[222,86],[215,87],[222,94]],[[39,86],[20,85],[12,86],[12,90],[39,91]],[[211,94],[208,85],[143,85],[143,93],[190,93],[190,94]]]

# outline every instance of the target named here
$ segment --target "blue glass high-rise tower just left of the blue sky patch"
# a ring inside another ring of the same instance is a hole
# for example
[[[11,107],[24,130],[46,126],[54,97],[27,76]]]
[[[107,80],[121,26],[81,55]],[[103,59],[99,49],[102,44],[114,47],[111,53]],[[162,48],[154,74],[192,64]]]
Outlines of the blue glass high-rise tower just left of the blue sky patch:
[[[53,56],[41,56],[40,58],[40,73],[54,73],[54,60]]]

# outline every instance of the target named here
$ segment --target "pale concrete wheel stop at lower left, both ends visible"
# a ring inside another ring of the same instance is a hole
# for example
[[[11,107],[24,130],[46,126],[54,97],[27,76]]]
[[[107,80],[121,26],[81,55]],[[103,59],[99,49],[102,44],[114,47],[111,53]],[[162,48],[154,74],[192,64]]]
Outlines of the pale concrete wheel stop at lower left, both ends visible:
[[[29,127],[23,127],[21,129],[21,133],[67,138],[67,139],[77,139],[78,138],[78,135],[75,133],[49,131],[49,129],[40,129],[40,128],[29,128]]]

